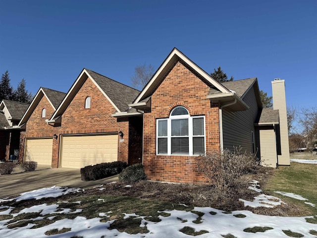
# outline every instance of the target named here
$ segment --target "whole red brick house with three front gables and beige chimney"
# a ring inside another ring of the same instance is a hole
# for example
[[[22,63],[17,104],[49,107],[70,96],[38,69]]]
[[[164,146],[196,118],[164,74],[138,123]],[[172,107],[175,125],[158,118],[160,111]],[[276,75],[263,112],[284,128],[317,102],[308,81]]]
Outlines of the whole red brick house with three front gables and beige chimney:
[[[274,108],[263,109],[257,78],[219,83],[176,48],[141,92],[84,68],[67,94],[36,95],[19,123],[24,159],[143,163],[148,179],[170,182],[203,182],[195,158],[234,146],[289,165],[284,80],[272,89]]]

